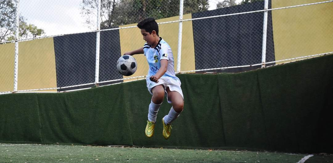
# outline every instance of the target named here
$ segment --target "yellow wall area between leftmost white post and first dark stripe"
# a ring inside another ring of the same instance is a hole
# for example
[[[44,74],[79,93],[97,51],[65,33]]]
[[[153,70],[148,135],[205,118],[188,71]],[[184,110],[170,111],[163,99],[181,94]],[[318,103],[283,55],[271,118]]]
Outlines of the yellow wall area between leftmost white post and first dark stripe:
[[[53,38],[20,42],[18,67],[17,90],[57,87]]]

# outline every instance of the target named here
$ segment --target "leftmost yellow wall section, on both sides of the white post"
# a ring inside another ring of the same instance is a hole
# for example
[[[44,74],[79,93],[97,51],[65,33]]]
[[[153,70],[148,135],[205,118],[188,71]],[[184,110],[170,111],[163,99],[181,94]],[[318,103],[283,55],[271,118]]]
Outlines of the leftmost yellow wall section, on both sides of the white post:
[[[0,45],[0,51],[0,92],[13,91],[15,43]],[[17,90],[57,87],[53,38],[19,42],[18,60]]]

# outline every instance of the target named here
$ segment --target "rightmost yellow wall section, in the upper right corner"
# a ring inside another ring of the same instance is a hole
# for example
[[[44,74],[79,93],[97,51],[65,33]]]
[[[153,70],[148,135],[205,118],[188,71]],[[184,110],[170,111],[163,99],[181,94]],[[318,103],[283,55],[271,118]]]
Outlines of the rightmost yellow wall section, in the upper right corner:
[[[272,8],[315,2],[272,0]],[[333,2],[273,10],[272,23],[275,60],[333,51]]]

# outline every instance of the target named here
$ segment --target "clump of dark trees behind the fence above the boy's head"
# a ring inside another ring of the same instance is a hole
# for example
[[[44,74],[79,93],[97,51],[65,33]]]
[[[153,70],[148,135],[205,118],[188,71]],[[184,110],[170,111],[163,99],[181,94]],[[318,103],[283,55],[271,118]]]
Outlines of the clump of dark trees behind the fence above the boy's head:
[[[83,0],[81,14],[95,25],[97,0]],[[184,0],[183,13],[208,10],[208,0]],[[179,15],[179,0],[101,0],[101,29],[137,23],[147,17],[162,19]]]

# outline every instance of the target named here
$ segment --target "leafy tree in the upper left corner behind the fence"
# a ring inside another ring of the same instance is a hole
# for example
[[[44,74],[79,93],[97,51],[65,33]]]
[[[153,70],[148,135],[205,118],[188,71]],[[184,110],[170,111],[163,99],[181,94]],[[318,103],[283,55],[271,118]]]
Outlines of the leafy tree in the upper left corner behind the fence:
[[[36,38],[45,34],[44,30],[28,24],[23,16],[19,18],[19,37]],[[12,0],[0,0],[0,41],[15,40],[15,4]]]

